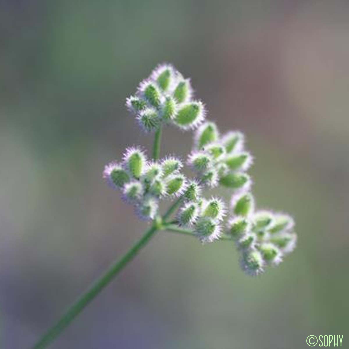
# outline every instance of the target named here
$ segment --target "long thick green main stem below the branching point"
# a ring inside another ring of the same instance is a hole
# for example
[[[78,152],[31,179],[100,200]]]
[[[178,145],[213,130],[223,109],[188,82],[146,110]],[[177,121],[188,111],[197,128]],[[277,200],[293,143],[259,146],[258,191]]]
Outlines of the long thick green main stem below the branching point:
[[[99,279],[84,292],[76,302],[70,306],[66,313],[53,325],[35,344],[33,349],[46,348],[79,313],[93,300],[99,292],[101,292],[107,284],[109,284],[116,275],[130,262],[136,254],[144,247],[158,229],[158,225],[154,224],[144,235],[115,263]]]

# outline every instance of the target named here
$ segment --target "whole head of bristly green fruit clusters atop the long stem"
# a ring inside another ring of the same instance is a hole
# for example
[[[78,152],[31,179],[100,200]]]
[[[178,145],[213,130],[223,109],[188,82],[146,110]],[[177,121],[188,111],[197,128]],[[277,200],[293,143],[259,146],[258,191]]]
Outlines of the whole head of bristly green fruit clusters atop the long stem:
[[[224,240],[235,243],[241,267],[248,275],[279,265],[294,250],[297,235],[293,218],[255,209],[252,179],[247,173],[253,156],[245,147],[244,134],[228,131],[221,135],[215,122],[205,120],[205,106],[193,99],[190,79],[171,64],[158,65],[139,84],[136,94],[126,99],[126,106],[143,131],[156,131],[154,144],[158,144],[163,125],[195,129],[193,147],[186,157],[194,178],[181,173],[183,163],[178,157],[148,161],[140,147],[127,148],[122,162],[105,166],[107,183],[120,190],[141,219],[153,221],[157,229],[175,224],[177,230],[173,231],[186,229],[186,234],[195,235],[202,243],[220,239],[225,226]],[[229,212],[221,198],[202,196],[204,189],[215,187],[231,194]],[[159,203],[166,198],[178,201],[161,217]],[[168,216],[174,213],[176,221],[169,223]]]

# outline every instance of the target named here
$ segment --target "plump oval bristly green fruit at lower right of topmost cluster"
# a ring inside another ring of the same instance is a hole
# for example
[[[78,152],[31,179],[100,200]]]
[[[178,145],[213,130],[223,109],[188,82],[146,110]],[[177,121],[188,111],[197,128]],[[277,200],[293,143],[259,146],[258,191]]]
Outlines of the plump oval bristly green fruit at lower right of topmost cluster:
[[[205,110],[201,102],[190,102],[179,107],[173,119],[178,127],[188,130],[194,129],[205,119]]]

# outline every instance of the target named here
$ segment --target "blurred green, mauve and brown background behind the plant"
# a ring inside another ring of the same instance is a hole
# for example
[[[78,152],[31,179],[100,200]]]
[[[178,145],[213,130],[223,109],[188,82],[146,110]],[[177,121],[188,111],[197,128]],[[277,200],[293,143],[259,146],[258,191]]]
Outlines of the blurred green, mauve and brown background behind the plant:
[[[257,204],[294,215],[298,247],[251,278],[233,245],[159,233],[52,348],[344,345],[348,16],[344,0],[1,1],[0,347],[29,348],[146,229],[102,171],[149,149],[124,104],[163,61],[246,133]],[[162,155],[191,137],[167,128]]]

